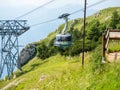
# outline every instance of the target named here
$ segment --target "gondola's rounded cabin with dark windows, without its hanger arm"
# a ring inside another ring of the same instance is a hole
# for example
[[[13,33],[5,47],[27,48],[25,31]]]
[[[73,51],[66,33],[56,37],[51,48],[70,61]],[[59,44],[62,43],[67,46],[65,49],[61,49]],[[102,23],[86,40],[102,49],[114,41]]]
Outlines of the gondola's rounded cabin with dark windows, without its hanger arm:
[[[71,42],[72,36],[71,34],[57,34],[54,46],[57,47],[69,47],[72,45]]]

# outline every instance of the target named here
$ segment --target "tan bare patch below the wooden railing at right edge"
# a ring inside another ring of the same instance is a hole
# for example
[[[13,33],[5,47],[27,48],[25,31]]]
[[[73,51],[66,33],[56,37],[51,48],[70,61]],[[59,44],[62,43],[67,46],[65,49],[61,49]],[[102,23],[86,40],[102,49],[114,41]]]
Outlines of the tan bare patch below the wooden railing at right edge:
[[[120,52],[109,53],[106,56],[109,62],[120,61]]]

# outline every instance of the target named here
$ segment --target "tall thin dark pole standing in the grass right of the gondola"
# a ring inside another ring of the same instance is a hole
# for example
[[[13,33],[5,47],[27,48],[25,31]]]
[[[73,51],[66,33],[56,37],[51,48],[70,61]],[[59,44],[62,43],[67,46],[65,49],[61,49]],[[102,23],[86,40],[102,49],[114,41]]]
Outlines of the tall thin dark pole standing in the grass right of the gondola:
[[[84,3],[84,30],[83,30],[83,44],[82,44],[82,67],[84,67],[84,48],[85,48],[85,30],[86,30],[86,2]]]

